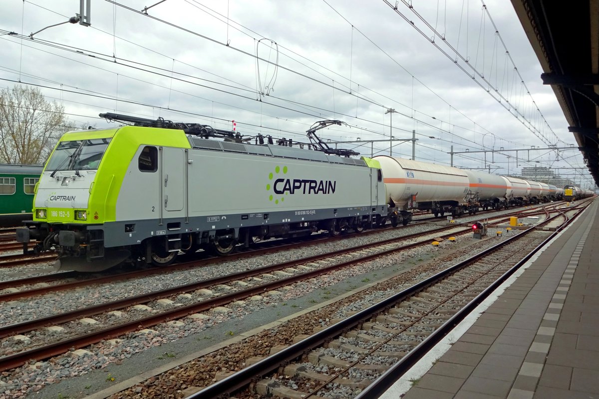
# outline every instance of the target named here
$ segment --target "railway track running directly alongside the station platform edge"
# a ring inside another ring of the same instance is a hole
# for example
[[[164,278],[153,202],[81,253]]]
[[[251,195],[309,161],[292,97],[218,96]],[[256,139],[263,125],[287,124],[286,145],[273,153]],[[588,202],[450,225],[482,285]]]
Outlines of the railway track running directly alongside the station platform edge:
[[[564,214],[561,226],[570,220]],[[555,233],[554,233],[555,234]],[[368,398],[383,392],[518,269],[551,233],[528,229],[189,396]],[[530,248],[535,248],[532,252]],[[225,373],[226,374],[226,373]],[[256,382],[256,376],[268,376]],[[384,378],[379,378],[383,376]],[[373,383],[376,380],[376,383]],[[240,392],[240,388],[248,387]]]

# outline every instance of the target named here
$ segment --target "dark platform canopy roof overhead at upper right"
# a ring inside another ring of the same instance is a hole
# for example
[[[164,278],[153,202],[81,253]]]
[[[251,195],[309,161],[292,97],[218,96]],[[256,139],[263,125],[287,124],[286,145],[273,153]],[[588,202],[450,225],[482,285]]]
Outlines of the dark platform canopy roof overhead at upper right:
[[[599,0],[512,4],[599,185]]]

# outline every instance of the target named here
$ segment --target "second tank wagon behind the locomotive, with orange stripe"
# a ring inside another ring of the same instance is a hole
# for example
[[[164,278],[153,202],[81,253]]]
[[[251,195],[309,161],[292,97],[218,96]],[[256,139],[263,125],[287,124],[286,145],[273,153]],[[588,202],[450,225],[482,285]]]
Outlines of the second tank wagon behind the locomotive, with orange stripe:
[[[470,181],[472,203],[478,203],[485,211],[489,208],[501,209],[507,206],[508,186],[502,176],[489,175],[477,170],[464,170],[464,172]]]

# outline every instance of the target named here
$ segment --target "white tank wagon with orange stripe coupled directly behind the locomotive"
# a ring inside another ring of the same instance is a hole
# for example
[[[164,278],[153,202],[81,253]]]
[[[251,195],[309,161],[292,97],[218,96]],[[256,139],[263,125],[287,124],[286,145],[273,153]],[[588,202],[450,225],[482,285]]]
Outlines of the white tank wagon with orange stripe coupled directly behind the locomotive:
[[[373,159],[383,170],[388,204],[401,212],[404,221],[409,209],[431,211],[435,216],[478,209],[468,201],[470,181],[464,170],[389,156]]]

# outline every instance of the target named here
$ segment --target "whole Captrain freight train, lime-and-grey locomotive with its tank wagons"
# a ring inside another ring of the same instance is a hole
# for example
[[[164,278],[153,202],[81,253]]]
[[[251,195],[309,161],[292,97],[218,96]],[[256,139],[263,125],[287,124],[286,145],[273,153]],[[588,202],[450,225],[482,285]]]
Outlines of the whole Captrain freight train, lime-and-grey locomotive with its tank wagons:
[[[59,255],[56,269],[165,266],[180,252],[218,255],[256,240],[408,224],[412,210],[460,215],[553,199],[557,189],[455,167],[373,158],[193,123],[100,114],[125,126],[68,132],[50,156],[23,251]]]

